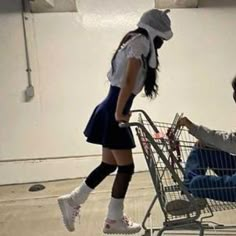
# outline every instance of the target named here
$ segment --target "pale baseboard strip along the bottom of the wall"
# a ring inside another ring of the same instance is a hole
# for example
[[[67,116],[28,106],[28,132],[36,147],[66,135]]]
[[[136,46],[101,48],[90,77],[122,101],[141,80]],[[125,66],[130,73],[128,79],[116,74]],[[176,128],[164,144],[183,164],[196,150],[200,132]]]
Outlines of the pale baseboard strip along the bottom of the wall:
[[[134,159],[136,172],[147,170],[143,154],[134,154]],[[1,162],[0,185],[83,178],[100,162],[97,155]]]

